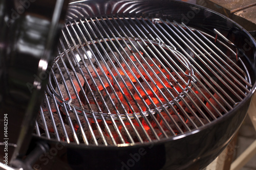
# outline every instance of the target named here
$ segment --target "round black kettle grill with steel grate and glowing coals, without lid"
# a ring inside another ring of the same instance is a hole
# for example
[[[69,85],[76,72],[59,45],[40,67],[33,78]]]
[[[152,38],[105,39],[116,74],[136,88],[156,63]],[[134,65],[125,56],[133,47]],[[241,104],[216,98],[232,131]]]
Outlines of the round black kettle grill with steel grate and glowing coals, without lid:
[[[255,42],[210,10],[163,4],[70,3],[32,139],[56,150],[52,162],[201,169],[231,140],[254,89]],[[34,165],[54,168],[42,158]]]

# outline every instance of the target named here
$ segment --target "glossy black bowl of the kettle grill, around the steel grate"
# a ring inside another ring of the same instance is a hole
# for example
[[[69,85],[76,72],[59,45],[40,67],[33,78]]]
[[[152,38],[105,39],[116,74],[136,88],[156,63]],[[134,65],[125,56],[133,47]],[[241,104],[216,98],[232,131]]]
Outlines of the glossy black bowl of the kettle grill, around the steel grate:
[[[114,146],[84,145],[34,135],[33,141],[47,142],[52,151],[57,150],[56,156],[51,160],[60,161],[63,166],[70,169],[201,169],[205,167],[226,147],[246,115],[255,88],[253,85],[255,81],[255,41],[237,23],[214,11],[172,1],[161,3],[155,1],[79,1],[70,4],[67,23],[81,18],[119,15],[175,20],[209,35],[216,35],[214,29],[221,31],[224,37],[237,46],[238,56],[243,59],[252,84],[250,92],[246,93],[245,98],[223,116],[190,132],[161,140]],[[249,45],[250,48],[245,49],[245,45],[247,47]],[[65,163],[63,157],[61,158],[63,154],[67,161]],[[38,160],[37,164],[42,167],[54,167],[54,164],[42,160]]]

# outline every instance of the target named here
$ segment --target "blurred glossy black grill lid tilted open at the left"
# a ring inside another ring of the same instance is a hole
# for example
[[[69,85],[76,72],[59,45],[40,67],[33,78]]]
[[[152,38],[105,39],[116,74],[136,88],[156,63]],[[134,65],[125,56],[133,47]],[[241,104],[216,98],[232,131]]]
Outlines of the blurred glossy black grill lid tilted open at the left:
[[[0,1],[0,119],[8,121],[0,142],[16,146],[8,164],[27,152],[68,6],[67,0],[24,2]]]

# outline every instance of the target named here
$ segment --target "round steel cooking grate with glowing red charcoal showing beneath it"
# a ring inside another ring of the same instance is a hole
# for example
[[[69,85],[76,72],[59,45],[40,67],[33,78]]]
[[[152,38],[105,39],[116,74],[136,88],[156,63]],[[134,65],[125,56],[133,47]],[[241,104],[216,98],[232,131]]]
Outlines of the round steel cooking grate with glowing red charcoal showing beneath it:
[[[250,79],[243,61],[233,60],[234,51],[168,20],[70,22],[62,31],[36,133],[118,145],[198,129],[249,92]]]

